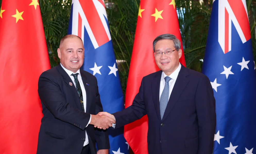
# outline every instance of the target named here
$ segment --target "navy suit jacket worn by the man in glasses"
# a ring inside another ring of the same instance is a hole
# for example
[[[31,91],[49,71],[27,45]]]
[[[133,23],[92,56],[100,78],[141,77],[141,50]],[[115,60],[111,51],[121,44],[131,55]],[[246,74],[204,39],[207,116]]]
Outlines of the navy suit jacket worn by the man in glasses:
[[[208,77],[182,66],[161,120],[161,75],[158,71],[143,77],[133,104],[113,114],[115,128],[147,114],[149,154],[211,154],[216,113]]]

